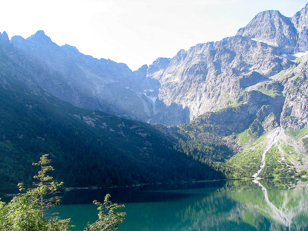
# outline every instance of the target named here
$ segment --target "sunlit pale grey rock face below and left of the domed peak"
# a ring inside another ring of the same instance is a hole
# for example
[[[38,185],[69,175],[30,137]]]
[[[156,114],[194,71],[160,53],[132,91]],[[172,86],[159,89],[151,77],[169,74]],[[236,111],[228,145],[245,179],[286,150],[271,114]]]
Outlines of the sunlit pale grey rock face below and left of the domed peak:
[[[161,84],[159,98],[167,105],[190,109],[190,119],[231,106],[251,86],[290,67],[278,49],[242,36],[198,44],[179,51],[167,68],[153,66],[148,77]],[[150,69],[150,68],[149,68]]]

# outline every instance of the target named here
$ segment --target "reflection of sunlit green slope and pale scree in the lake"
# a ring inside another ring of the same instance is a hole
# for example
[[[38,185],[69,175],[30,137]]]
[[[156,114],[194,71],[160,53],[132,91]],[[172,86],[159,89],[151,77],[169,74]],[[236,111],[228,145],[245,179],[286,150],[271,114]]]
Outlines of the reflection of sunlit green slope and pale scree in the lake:
[[[306,179],[226,181],[178,216],[181,230],[308,230]]]

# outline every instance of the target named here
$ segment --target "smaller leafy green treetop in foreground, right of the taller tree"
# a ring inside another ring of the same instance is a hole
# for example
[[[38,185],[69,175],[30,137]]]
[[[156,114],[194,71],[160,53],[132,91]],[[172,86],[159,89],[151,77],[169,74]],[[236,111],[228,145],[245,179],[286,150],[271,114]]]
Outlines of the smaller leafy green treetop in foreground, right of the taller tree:
[[[107,194],[104,198],[104,203],[93,201],[93,204],[98,205],[99,210],[98,220],[93,224],[88,222],[87,227],[84,231],[111,231],[117,230],[118,225],[124,222],[125,212],[116,213],[115,209],[124,208],[125,205],[118,205],[110,201],[110,194]]]

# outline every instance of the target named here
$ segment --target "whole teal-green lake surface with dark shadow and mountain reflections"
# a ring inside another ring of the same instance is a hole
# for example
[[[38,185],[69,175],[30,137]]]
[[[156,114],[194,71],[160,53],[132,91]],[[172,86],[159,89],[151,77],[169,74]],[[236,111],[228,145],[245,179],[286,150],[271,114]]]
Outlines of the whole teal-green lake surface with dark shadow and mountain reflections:
[[[54,208],[81,231],[97,219],[93,200],[125,204],[119,231],[308,230],[308,179],[228,180],[73,190]]]

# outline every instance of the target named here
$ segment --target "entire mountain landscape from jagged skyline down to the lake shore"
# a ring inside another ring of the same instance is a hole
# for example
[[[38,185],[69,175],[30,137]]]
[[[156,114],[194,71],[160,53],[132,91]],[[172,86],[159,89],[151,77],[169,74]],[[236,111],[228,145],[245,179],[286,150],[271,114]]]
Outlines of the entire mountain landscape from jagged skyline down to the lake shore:
[[[1,33],[1,193],[44,153],[66,187],[307,175],[307,9],[137,71]]]

